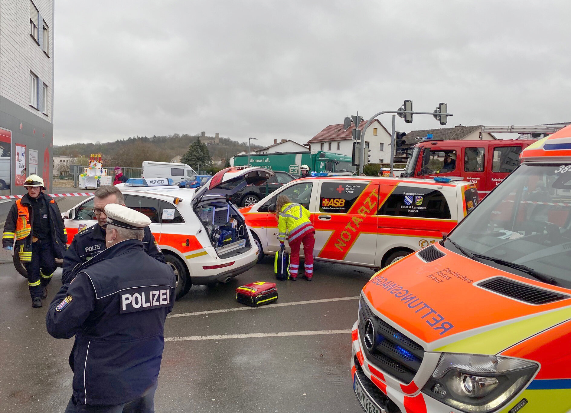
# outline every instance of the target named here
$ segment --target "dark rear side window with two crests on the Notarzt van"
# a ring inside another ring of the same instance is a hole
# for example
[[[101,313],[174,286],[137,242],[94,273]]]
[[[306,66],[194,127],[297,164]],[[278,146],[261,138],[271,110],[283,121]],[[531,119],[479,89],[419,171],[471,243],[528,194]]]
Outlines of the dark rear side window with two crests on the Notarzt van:
[[[448,202],[439,190],[400,185],[381,205],[377,215],[444,220],[451,218]]]

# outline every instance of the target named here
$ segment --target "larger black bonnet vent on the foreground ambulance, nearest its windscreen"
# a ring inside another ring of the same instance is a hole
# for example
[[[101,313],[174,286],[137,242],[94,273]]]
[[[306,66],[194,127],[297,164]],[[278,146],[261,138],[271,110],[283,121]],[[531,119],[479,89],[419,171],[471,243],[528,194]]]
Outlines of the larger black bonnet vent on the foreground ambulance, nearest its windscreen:
[[[570,298],[568,295],[518,283],[504,277],[495,277],[478,283],[478,287],[524,301],[529,304],[548,304]]]

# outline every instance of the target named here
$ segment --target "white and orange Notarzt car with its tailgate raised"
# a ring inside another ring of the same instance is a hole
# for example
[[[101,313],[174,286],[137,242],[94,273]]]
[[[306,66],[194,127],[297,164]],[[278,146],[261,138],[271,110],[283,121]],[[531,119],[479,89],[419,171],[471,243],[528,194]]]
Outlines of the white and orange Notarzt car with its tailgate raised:
[[[178,299],[191,284],[227,282],[254,267],[258,247],[229,198],[272,175],[263,168],[234,167],[220,170],[197,189],[169,185],[167,178],[134,178],[116,186],[127,207],[151,219],[151,232],[177,276]],[[96,223],[93,197],[67,211],[64,220],[71,243],[79,231]]]

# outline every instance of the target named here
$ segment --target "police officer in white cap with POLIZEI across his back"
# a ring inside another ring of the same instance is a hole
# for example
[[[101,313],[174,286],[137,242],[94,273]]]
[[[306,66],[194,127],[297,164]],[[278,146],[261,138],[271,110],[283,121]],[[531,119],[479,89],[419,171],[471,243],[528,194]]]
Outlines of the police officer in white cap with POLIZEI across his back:
[[[66,413],[150,413],[175,275],[143,251],[148,217],[119,204],[104,212],[107,249],[59,290],[46,315],[47,331],[61,339],[75,335]]]

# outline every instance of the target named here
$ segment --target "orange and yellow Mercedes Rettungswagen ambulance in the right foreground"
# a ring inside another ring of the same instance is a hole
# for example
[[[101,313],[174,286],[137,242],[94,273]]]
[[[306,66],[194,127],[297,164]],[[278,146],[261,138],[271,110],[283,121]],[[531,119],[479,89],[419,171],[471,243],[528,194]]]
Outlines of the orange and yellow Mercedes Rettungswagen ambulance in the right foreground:
[[[571,126],[521,158],[443,241],[363,288],[365,411],[571,411]]]

